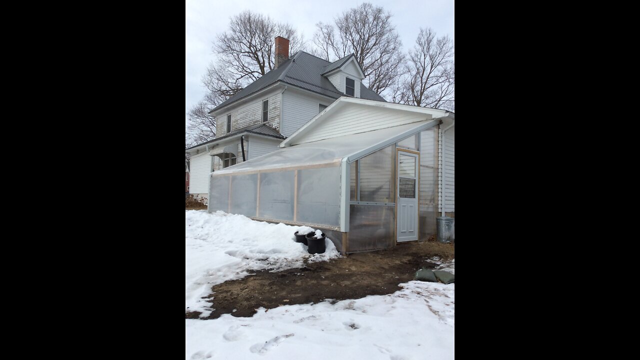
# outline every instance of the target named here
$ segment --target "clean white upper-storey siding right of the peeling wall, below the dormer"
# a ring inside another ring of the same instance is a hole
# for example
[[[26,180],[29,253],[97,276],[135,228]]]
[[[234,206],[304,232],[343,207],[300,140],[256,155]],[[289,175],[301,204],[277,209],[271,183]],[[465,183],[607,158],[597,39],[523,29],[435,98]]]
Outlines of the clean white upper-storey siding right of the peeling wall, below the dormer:
[[[291,136],[316,116],[319,104],[329,106],[333,102],[332,99],[321,99],[292,90],[288,90],[282,95],[282,130],[280,133],[285,137]]]

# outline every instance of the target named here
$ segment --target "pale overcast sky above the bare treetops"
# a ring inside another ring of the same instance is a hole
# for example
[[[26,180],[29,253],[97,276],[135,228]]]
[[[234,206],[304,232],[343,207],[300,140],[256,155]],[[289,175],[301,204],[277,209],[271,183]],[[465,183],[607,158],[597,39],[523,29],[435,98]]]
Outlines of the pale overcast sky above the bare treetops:
[[[365,1],[355,0],[186,0],[185,6],[185,113],[205,94],[202,75],[214,60],[211,51],[216,34],[226,31],[229,18],[244,10],[288,22],[310,42],[317,22],[333,23],[334,17]],[[394,15],[392,23],[405,49],[413,46],[420,27],[455,39],[454,0],[369,0]]]

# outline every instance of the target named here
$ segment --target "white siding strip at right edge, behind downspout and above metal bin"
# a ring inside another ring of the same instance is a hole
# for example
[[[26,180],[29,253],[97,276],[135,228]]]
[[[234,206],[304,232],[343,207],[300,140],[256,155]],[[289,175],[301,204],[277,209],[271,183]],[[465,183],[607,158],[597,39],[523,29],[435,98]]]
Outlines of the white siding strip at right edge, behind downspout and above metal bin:
[[[440,138],[442,139],[442,126],[440,127]],[[438,211],[442,211],[442,176],[444,173],[445,188],[445,211],[456,211],[456,127],[451,127],[444,134],[445,136],[445,163],[442,165],[442,141],[438,143]]]

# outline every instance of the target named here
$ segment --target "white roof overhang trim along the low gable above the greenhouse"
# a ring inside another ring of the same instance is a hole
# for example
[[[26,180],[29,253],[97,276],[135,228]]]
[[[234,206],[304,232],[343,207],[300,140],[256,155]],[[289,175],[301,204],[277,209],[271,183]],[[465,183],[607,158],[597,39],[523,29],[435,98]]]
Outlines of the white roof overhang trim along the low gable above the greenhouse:
[[[296,141],[301,136],[305,136],[305,134],[313,131],[314,127],[317,126],[323,119],[332,116],[333,114],[341,111],[343,108],[347,106],[353,106],[353,104],[372,106],[383,109],[392,109],[392,110],[400,110],[400,111],[410,111],[413,113],[420,113],[424,115],[431,115],[433,119],[440,119],[443,117],[453,116],[454,114],[447,110],[440,109],[431,109],[431,108],[422,108],[420,106],[412,106],[412,105],[404,105],[404,104],[396,104],[395,102],[382,102],[375,100],[367,100],[367,99],[359,99],[356,97],[339,97],[336,101],[334,101],[328,108],[321,111],[315,117],[304,124],[300,129],[298,129],[291,136],[286,138],[278,147],[289,147],[291,144]],[[453,118],[451,118],[452,121]],[[444,119],[443,119],[444,120]]]

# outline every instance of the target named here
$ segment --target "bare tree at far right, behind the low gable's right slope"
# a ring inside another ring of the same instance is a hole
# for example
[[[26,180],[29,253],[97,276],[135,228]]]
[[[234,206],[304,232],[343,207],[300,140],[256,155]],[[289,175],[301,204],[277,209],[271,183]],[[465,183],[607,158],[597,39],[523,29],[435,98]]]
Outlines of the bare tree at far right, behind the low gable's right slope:
[[[451,38],[436,38],[433,30],[421,28],[403,72],[392,88],[392,101],[455,110],[456,81]]]

